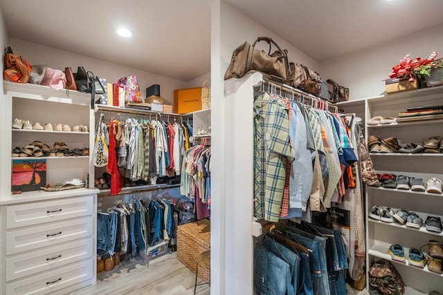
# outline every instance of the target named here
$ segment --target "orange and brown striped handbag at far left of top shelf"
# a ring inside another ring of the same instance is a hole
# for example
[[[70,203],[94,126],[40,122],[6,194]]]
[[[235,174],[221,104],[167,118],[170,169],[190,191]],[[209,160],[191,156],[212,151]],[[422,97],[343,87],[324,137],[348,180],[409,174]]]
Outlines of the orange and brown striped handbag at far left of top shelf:
[[[28,83],[33,69],[21,55],[12,53],[12,49],[9,46],[5,48],[4,64],[3,79],[16,83]]]

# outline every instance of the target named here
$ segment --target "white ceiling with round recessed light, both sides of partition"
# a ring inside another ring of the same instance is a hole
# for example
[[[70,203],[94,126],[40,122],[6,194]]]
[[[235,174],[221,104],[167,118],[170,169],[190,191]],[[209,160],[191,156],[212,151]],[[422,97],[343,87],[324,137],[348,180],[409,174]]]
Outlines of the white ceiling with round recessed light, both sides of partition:
[[[442,0],[222,1],[318,62],[443,23]],[[0,8],[12,37],[190,81],[210,71],[210,3],[1,0]],[[133,37],[118,37],[119,26]]]

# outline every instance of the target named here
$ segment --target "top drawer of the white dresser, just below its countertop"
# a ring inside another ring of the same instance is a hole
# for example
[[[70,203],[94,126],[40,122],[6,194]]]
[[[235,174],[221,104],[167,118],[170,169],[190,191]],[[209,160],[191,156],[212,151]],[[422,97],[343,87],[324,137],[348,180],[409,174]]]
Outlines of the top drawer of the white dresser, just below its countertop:
[[[62,221],[92,213],[93,196],[17,204],[6,209],[6,229]]]

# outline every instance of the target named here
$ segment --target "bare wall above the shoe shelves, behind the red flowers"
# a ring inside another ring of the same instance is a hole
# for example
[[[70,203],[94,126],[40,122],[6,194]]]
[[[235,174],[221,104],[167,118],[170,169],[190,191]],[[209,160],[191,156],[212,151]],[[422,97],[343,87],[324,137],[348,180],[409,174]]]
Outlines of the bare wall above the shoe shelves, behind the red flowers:
[[[383,80],[392,66],[405,55],[425,59],[435,50],[443,55],[443,26],[322,62],[320,76],[350,88],[350,99],[377,96],[385,91]]]

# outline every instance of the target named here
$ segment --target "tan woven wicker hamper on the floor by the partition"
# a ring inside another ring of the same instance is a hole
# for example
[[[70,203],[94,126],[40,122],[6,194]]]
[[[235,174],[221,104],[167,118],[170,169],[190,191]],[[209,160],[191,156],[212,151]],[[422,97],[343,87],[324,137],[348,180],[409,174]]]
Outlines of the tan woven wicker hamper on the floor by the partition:
[[[202,219],[177,227],[177,259],[192,272],[196,272],[200,254],[210,249],[210,222]],[[205,260],[205,259],[200,259]],[[208,260],[206,258],[206,260]],[[206,265],[206,267],[204,267]],[[210,261],[199,262],[198,276],[209,281]],[[205,270],[206,269],[206,270]]]

